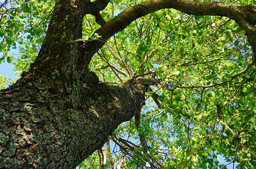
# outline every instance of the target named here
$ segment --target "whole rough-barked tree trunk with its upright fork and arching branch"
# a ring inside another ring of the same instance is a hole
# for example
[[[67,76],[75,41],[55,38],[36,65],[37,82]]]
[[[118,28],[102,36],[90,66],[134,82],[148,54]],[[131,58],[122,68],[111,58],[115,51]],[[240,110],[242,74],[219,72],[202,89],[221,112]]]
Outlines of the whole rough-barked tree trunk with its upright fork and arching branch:
[[[144,101],[146,87],[98,84],[88,70],[92,56],[113,34],[132,21],[162,8],[193,15],[220,15],[245,29],[256,53],[255,8],[224,3],[146,1],[103,23],[102,41],[82,37],[86,14],[97,15],[109,1],[57,1],[44,44],[28,72],[0,92],[0,168],[74,168],[129,121]]]

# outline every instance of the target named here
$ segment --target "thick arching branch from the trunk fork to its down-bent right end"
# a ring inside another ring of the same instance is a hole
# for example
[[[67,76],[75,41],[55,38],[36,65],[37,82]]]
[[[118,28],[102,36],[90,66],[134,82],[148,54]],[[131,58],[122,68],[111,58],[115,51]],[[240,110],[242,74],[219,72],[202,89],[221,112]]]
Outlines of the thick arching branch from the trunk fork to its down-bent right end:
[[[228,3],[195,2],[188,0],[149,0],[127,8],[117,17],[114,17],[114,19],[105,23],[100,29],[97,29],[95,33],[101,35],[102,39],[108,39],[112,37],[112,35],[125,29],[131,22],[138,19],[139,17],[164,8],[174,8],[191,15],[226,16],[233,19],[242,29],[245,30],[254,55],[256,55],[256,29],[250,25],[256,23],[255,8],[248,6],[236,6]],[[104,43],[101,42],[96,44],[92,42],[86,42],[80,48],[80,53],[86,52],[84,48],[91,48],[92,45],[95,48],[93,48],[94,51],[87,51],[87,54],[91,53],[89,54],[89,57],[92,57],[93,54],[95,54],[95,51],[99,50],[99,48],[103,46]],[[79,60],[79,63],[88,64],[89,60],[91,60],[91,58],[88,58],[87,55],[87,58],[84,59],[84,61]]]

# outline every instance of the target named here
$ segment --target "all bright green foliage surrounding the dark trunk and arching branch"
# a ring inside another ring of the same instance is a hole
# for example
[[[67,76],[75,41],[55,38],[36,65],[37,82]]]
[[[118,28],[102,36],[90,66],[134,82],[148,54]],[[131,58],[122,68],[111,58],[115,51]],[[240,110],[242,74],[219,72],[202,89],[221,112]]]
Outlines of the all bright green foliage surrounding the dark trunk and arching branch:
[[[6,2],[1,7],[0,61],[14,63],[21,73],[37,56],[54,3]],[[135,3],[139,1],[110,1],[101,16],[108,21]],[[98,28],[94,16],[84,18],[85,39]],[[10,51],[16,47],[21,56],[14,59]],[[106,168],[111,163],[121,168],[227,168],[229,163],[256,167],[252,59],[245,32],[233,20],[172,9],[141,17],[109,39],[90,65],[101,82],[120,85],[150,76],[158,84],[146,94],[141,127],[126,122],[110,137],[107,152],[112,158],[108,156]],[[220,164],[217,155],[227,162]],[[101,161],[100,151],[95,152],[79,167],[92,168]]]

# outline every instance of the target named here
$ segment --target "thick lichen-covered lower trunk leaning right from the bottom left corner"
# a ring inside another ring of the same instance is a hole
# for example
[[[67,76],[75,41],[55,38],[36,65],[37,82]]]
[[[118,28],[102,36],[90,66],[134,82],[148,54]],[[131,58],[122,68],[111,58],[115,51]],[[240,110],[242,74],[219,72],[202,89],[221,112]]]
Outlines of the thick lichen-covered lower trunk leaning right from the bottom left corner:
[[[19,81],[1,92],[0,167],[74,168],[144,99],[140,84],[76,86],[70,92],[37,84]]]

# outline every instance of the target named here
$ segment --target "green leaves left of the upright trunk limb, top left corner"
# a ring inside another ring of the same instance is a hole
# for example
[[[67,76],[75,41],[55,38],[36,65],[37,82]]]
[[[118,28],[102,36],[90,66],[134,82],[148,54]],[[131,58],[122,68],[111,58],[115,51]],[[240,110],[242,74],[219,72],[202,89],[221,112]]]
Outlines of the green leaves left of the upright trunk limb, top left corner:
[[[0,6],[0,64],[14,63],[16,74],[20,74],[40,50],[54,2],[6,0]],[[19,56],[11,51],[19,51]]]

